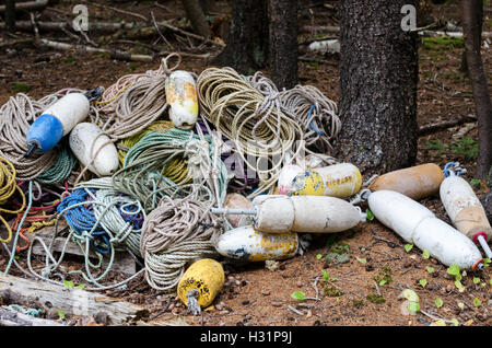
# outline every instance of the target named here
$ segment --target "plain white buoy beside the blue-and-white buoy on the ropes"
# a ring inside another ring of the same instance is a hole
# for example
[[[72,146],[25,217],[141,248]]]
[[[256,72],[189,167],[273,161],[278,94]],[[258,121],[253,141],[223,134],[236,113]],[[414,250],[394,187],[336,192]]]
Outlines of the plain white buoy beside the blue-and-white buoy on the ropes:
[[[84,166],[90,164],[95,155],[89,165],[89,170],[94,174],[109,176],[118,170],[118,151],[97,125],[77,125],[70,132],[69,143],[73,154]]]

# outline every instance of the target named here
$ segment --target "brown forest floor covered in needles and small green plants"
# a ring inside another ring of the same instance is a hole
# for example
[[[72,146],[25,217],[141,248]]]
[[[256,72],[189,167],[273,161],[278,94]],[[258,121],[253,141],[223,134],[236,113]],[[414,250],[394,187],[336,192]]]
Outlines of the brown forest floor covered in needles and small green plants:
[[[71,12],[73,3],[61,2],[57,9]],[[179,1],[161,1],[169,9],[168,13],[153,3],[140,1],[138,5],[126,3],[119,8],[145,15],[153,10],[157,20],[184,16]],[[435,7],[434,16],[459,22],[460,11],[457,3],[458,1],[449,1],[446,5]],[[315,24],[338,24],[336,15],[329,9],[321,5],[313,10],[316,12]],[[115,20],[118,16],[126,21],[136,20],[91,5],[90,11],[91,15],[95,13],[97,19]],[[45,10],[45,13],[51,14],[54,19],[58,15],[49,9]],[[312,24],[309,12],[303,13],[307,13],[302,18],[303,23]],[[489,12],[485,12],[484,31],[491,28],[491,20],[487,13]],[[319,33],[306,33],[302,38],[316,35]],[[134,49],[136,46],[122,47]],[[139,53],[147,53],[141,51],[144,48],[139,49]],[[462,50],[462,40],[459,39],[421,39],[419,126],[475,114],[470,81],[458,70]],[[491,81],[490,49],[483,49],[482,57]],[[300,62],[300,82],[319,88],[328,97],[338,102],[339,57],[326,55],[317,58],[319,62]],[[113,60],[105,55],[57,53],[34,47],[16,47],[9,51],[0,48],[0,61],[1,104],[17,91],[20,84],[28,86],[31,96],[42,97],[68,86],[108,86],[124,74],[154,70],[160,63],[157,58],[152,62],[126,62]],[[200,73],[208,67],[204,59],[184,57],[180,68]],[[469,126],[470,124],[465,124],[421,137],[418,163],[434,162],[443,167],[449,161],[459,161],[468,170],[465,177],[471,181],[477,159],[478,135],[477,128],[468,129]],[[479,196],[488,190],[483,183],[477,186]],[[438,197],[421,202],[438,218],[449,222]],[[223,290],[216,297],[214,305],[203,311],[202,316],[196,317],[174,298],[167,302],[165,294],[151,289],[142,279],[130,283],[129,288],[132,290],[106,293],[140,303],[149,308],[152,314],[162,312],[171,304],[166,312],[153,321],[157,325],[406,326],[429,325],[436,318],[456,318],[461,325],[492,324],[490,268],[482,272],[468,272],[462,278],[466,290],[459,292],[454,285],[454,278],[447,274],[446,266],[423,257],[417,247],[407,252],[405,244],[397,234],[374,220],[361,223],[335,237],[316,235],[304,255],[279,262],[274,270],[267,269],[263,263],[239,265],[227,262]],[[327,263],[325,256],[333,248],[344,252],[343,255],[348,257],[340,263]],[[23,254],[20,256],[20,262],[23,263]],[[2,264],[4,265],[4,262]],[[434,271],[430,272],[429,267]],[[12,270],[12,274],[20,275],[16,270]],[[115,279],[119,279],[119,276],[115,275]],[[380,282],[382,279],[386,281]],[[424,287],[419,283],[421,279],[426,280]],[[475,283],[476,281],[478,283]],[[419,294],[421,311],[426,315],[408,315],[402,311],[405,304],[398,297],[403,289],[413,289]],[[291,297],[294,291],[302,291],[309,298],[318,297],[319,300],[295,300]],[[438,298],[443,300],[443,305],[437,309],[435,300]]]

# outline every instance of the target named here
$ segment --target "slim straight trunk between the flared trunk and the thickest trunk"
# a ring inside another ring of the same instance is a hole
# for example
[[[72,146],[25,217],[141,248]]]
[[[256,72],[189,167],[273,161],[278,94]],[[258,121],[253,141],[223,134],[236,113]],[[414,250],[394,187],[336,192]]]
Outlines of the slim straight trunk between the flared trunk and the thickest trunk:
[[[279,90],[297,84],[297,0],[270,0],[269,60]]]

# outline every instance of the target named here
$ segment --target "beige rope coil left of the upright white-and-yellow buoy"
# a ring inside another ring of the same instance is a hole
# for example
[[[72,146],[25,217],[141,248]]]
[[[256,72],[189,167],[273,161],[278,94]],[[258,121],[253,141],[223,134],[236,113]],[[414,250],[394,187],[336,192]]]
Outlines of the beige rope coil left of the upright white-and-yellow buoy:
[[[167,60],[177,57],[178,62],[167,67]],[[97,102],[102,116],[102,129],[112,139],[120,140],[137,135],[164,115],[166,102],[165,80],[180,63],[180,56],[168,55],[157,70],[120,78]]]

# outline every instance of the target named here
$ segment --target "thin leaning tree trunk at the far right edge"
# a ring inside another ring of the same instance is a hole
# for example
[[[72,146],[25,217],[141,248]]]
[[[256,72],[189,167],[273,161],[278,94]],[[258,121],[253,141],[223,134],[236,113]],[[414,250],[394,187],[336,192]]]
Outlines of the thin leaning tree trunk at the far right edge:
[[[476,177],[490,181],[492,178],[492,104],[481,55],[482,18],[483,3],[481,0],[462,1],[465,53],[479,128],[479,156]]]

